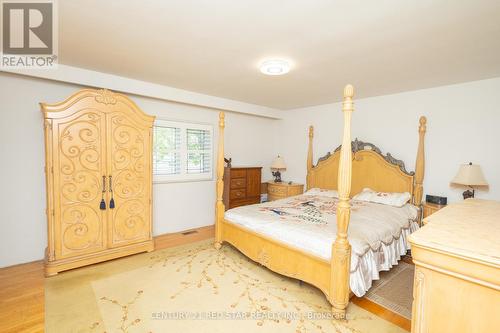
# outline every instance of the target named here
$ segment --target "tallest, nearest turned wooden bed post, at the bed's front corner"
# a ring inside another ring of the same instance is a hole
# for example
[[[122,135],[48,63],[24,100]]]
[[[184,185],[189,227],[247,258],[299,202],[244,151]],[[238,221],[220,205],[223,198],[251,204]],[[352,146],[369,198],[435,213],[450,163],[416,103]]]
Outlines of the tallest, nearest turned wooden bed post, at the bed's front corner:
[[[352,150],[351,150],[351,115],[354,111],[354,87],[344,88],[344,137],[340,150],[338,171],[339,203],[337,205],[337,238],[332,246],[330,298],[335,318],[345,319],[345,311],[349,304],[349,276],[351,269],[351,245],[347,239],[347,229],[351,216],[349,195],[351,192]]]

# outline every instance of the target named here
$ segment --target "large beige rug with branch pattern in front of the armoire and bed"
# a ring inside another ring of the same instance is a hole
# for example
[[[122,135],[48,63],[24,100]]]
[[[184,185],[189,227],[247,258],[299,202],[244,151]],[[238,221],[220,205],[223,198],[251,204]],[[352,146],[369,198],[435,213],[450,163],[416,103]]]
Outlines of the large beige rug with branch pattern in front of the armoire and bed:
[[[350,304],[334,320],[316,288],[203,241],[46,279],[46,332],[405,332]]]

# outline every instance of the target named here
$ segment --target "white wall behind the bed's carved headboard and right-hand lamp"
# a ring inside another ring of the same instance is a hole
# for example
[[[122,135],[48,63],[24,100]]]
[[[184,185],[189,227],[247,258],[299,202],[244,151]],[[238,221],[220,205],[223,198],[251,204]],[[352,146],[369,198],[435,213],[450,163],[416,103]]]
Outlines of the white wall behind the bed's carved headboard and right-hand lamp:
[[[352,137],[377,145],[414,170],[418,118],[427,116],[424,194],[461,200],[450,180],[459,164],[480,164],[490,186],[476,197],[500,200],[500,78],[355,100]],[[315,127],[314,161],[342,138],[341,104],[301,108],[279,121],[277,149],[287,162],[284,178],[305,181],[307,128]]]

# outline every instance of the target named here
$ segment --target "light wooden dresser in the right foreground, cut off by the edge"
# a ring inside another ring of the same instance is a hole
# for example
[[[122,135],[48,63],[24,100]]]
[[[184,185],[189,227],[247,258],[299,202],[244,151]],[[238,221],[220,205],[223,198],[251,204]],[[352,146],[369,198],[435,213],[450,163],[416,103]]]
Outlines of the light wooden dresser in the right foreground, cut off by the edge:
[[[410,236],[412,332],[500,332],[500,202],[468,199]]]

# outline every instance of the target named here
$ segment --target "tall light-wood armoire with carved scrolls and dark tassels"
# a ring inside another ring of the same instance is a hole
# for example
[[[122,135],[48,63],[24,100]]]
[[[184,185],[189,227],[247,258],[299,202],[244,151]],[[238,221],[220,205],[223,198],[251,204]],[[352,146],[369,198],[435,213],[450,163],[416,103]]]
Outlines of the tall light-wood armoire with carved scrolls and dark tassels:
[[[127,96],[81,90],[41,103],[48,246],[45,274],[152,251],[154,117]]]

